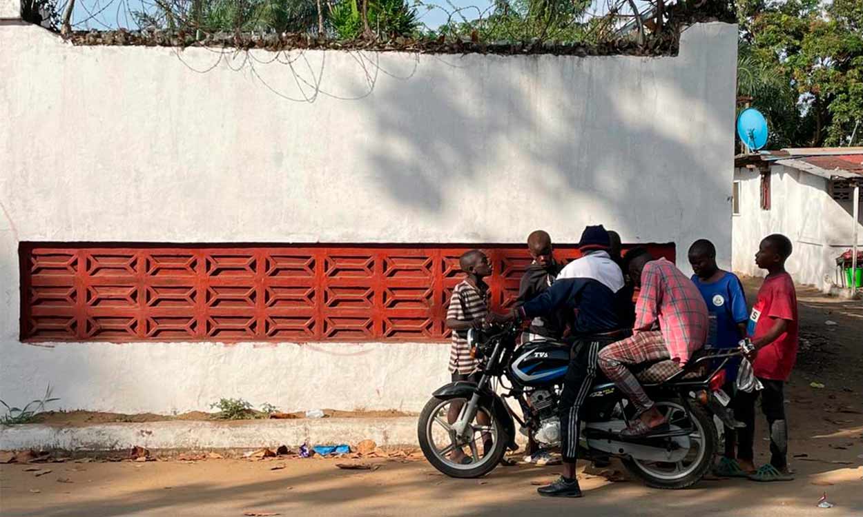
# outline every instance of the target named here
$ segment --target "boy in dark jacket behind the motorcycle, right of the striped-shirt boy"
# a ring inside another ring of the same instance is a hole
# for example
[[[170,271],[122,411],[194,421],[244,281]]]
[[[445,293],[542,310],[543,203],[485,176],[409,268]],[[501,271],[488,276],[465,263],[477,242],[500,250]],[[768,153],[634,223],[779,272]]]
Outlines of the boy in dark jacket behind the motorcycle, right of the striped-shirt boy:
[[[554,248],[551,246],[551,236],[544,230],[536,230],[527,236],[527,251],[533,259],[519,284],[519,296],[515,306],[520,307],[530,302],[536,296],[544,293],[557,273],[563,268],[554,258]],[[541,315],[533,318],[530,329],[522,336],[521,342],[539,339],[560,339],[564,332],[564,321],[558,313]]]

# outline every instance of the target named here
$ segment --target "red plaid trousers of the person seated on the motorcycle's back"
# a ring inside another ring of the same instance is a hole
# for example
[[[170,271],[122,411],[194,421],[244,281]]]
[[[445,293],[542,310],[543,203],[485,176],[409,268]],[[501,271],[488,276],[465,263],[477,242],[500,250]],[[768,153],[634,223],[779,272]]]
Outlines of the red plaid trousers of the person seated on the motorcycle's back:
[[[629,366],[669,358],[671,355],[665,347],[662,333],[646,331],[603,348],[599,352],[599,367],[608,380],[617,384],[620,391],[629,397],[639,413],[643,413],[653,407],[653,401],[633,372],[629,371]]]

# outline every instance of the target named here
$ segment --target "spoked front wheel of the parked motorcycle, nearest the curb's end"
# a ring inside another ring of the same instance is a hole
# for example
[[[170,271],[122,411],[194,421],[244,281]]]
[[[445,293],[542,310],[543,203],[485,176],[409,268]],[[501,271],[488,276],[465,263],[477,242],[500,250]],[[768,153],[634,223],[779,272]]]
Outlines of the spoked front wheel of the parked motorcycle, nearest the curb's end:
[[[509,437],[492,408],[480,404],[469,431],[457,439],[452,422],[467,407],[465,398],[432,397],[419,414],[417,433],[425,459],[449,477],[485,476],[501,462]]]

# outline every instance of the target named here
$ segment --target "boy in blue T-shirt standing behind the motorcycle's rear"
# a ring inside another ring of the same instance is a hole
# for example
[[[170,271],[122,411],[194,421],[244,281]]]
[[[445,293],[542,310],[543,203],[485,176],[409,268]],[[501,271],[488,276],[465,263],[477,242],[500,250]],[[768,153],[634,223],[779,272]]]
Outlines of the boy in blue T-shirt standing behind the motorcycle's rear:
[[[695,275],[692,282],[701,291],[710,314],[716,317],[717,348],[736,348],[740,339],[746,336],[746,322],[749,313],[746,309],[746,296],[743,285],[734,273],[723,271],[716,265],[716,248],[712,242],[699,239],[692,243],[689,252],[690,265]],[[735,408],[739,397],[734,396],[734,379],[740,360],[729,361],[725,371],[726,384],[723,387],[732,396],[731,408]],[[737,433],[725,428],[725,455],[715,467],[715,474],[722,477],[746,477],[734,457]],[[748,466],[748,465],[747,465]]]

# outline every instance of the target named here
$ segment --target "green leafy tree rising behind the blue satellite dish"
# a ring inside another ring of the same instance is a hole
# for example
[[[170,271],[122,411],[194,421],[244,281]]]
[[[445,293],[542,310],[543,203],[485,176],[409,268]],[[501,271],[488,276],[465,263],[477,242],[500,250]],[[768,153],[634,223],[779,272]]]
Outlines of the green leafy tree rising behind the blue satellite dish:
[[[863,142],[863,2],[738,0],[737,9],[738,94],[765,113],[768,145]]]

